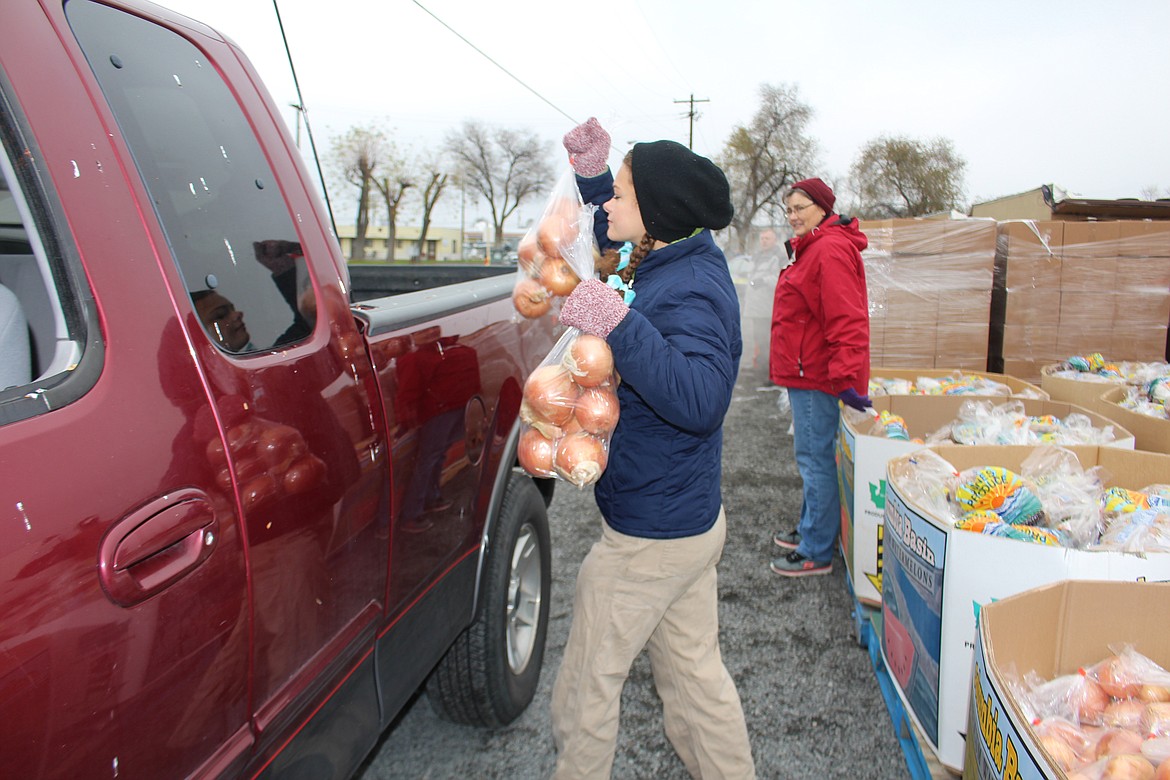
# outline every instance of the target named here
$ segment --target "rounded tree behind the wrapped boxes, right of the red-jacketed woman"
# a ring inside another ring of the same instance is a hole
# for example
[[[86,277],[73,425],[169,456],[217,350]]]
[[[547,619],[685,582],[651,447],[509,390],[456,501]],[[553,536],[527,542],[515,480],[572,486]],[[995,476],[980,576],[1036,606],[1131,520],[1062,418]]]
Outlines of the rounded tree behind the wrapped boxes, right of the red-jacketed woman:
[[[962,208],[966,160],[945,138],[920,141],[881,136],[866,144],[851,168],[859,216],[922,216]]]

